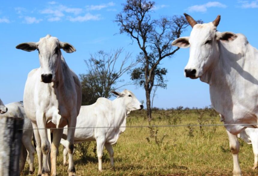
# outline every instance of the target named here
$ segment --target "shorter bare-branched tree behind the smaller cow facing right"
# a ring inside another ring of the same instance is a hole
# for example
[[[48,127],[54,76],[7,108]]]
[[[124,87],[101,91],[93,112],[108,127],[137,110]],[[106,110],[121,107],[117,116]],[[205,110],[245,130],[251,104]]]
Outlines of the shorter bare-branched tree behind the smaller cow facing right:
[[[122,54],[125,55],[122,56]],[[88,73],[80,75],[82,104],[92,104],[98,97],[109,98],[111,91],[132,84],[120,79],[124,73],[137,65],[136,61],[130,59],[131,53],[124,53],[123,48],[109,53],[98,51],[95,54],[91,54],[90,59],[85,60]],[[120,61],[122,63],[119,63]]]

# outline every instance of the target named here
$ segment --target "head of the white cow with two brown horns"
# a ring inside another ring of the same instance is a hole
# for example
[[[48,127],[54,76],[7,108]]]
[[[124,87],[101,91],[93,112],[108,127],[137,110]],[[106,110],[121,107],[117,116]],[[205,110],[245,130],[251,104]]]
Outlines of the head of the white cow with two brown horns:
[[[187,14],[184,14],[192,31],[190,37],[180,37],[172,42],[172,45],[180,48],[190,47],[190,57],[184,74],[186,77],[196,79],[201,77],[219,58],[218,42],[231,42],[237,38],[232,32],[217,32],[220,22],[220,15],[210,23],[197,24],[196,21]]]

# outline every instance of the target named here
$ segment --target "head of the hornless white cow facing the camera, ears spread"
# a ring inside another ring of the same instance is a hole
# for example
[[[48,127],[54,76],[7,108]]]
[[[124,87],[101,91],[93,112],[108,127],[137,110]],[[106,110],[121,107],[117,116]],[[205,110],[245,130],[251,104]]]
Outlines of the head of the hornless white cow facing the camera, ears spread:
[[[39,42],[21,43],[17,49],[24,51],[38,50],[38,57],[41,66],[40,80],[44,83],[55,82],[55,76],[61,66],[61,50],[72,53],[76,49],[66,42],[60,42],[56,37],[46,35]]]

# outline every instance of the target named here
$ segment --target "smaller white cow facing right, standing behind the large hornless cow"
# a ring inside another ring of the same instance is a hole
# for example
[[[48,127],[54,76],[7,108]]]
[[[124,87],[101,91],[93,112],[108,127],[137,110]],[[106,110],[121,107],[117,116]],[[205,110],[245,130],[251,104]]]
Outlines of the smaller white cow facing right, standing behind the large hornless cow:
[[[119,135],[125,131],[126,117],[128,114],[133,110],[143,109],[143,105],[137,100],[131,91],[124,90],[121,93],[113,91],[112,93],[117,95],[117,98],[113,101],[108,100],[107,98],[98,98],[96,103],[81,107],[79,116],[77,117],[76,130],[74,134],[75,143],[96,140],[99,171],[102,171],[104,146],[110,155],[110,165],[113,168],[114,152],[111,145],[115,144]],[[66,136],[67,129],[64,129],[63,138],[66,139]],[[61,144],[65,144],[64,139],[61,139]],[[67,147],[64,149],[63,154],[64,165],[66,165]]]

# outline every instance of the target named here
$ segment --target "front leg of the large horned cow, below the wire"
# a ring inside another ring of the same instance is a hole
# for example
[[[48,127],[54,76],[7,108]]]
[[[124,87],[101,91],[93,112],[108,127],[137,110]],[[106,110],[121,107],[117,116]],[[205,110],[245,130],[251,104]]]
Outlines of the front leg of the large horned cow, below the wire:
[[[227,131],[227,135],[229,138],[229,148],[232,153],[233,157],[233,176],[241,176],[241,169],[238,162],[238,152],[239,152],[239,142],[237,139],[237,135],[231,134],[229,131]]]

